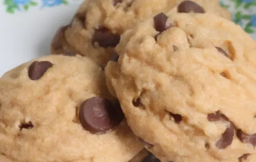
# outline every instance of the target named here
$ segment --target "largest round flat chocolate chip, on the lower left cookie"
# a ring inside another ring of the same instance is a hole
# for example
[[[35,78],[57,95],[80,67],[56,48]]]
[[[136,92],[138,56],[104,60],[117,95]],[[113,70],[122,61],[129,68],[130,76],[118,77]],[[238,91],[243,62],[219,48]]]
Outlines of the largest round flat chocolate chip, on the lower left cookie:
[[[104,134],[121,122],[121,112],[111,101],[93,97],[81,104],[79,119],[85,130],[93,134]]]

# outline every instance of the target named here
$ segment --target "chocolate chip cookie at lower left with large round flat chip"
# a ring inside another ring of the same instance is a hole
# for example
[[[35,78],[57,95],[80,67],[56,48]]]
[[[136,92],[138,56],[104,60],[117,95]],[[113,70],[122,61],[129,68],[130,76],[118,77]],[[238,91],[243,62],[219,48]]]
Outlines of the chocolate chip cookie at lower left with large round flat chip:
[[[101,67],[63,55],[0,78],[0,146],[12,162],[128,162],[143,149]]]

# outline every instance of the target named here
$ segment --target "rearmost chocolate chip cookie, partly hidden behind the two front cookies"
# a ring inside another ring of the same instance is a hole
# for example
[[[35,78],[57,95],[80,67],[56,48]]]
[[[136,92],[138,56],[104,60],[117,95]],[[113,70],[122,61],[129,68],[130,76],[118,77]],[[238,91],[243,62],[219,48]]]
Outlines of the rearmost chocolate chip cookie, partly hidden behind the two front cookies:
[[[196,3],[195,3],[196,2]],[[52,40],[51,53],[73,51],[105,66],[115,57],[120,34],[159,12],[209,12],[230,18],[218,0],[86,0],[70,25],[61,27]]]

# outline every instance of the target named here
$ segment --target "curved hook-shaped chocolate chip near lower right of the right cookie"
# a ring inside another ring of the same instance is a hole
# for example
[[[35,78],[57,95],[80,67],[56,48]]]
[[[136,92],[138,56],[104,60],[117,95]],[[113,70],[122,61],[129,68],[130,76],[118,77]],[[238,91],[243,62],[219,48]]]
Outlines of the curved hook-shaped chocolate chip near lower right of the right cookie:
[[[223,114],[217,111],[215,114],[208,114],[207,115],[208,121],[228,121],[230,124],[227,126],[224,133],[221,135],[221,138],[215,143],[218,149],[227,148],[233,142],[235,126],[234,124]]]

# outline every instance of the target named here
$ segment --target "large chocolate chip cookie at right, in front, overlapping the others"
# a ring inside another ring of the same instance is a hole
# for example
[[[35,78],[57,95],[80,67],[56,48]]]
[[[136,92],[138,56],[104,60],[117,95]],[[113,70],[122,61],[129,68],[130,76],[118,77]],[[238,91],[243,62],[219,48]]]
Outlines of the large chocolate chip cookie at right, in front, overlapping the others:
[[[256,42],[213,14],[157,14],[121,36],[108,86],[162,162],[254,162]]]

